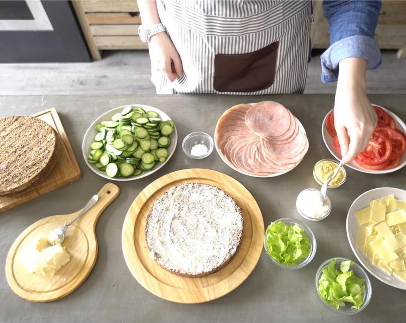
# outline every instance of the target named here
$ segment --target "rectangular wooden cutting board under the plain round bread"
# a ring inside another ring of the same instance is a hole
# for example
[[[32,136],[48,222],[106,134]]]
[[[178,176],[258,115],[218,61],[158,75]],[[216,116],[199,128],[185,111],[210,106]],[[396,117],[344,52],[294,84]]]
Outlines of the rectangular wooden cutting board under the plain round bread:
[[[45,121],[58,132],[60,139],[58,161],[47,176],[28,187],[24,192],[13,196],[0,196],[0,213],[82,177],[82,171],[80,171],[78,161],[75,158],[75,154],[73,154],[71,144],[56,109],[50,108],[36,113],[32,117]]]

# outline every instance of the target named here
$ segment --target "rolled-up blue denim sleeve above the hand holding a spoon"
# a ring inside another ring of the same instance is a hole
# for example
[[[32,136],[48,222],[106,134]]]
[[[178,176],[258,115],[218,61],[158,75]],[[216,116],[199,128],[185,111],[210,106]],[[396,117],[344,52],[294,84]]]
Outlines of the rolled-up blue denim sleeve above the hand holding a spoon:
[[[381,1],[323,1],[330,47],[321,56],[322,82],[337,81],[338,63],[347,57],[365,59],[368,69],[381,65],[374,40],[380,7]]]

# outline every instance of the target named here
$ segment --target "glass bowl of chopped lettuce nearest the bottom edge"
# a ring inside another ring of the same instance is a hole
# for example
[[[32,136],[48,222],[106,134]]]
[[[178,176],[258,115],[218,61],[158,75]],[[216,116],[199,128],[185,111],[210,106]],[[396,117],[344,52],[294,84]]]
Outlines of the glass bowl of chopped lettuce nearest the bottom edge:
[[[371,282],[364,269],[356,262],[340,257],[320,265],[315,286],[323,304],[339,314],[361,312],[372,295]]]

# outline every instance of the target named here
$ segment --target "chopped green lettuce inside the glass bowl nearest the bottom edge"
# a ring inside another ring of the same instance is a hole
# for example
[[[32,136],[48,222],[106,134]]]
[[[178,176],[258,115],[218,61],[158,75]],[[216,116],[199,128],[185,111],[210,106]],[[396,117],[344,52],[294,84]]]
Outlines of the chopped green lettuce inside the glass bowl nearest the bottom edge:
[[[358,278],[350,270],[354,263],[350,260],[340,264],[340,271],[335,269],[336,260],[333,259],[326,268],[323,269],[319,280],[318,290],[327,304],[339,308],[352,303],[351,308],[359,307],[364,302],[365,280]]]

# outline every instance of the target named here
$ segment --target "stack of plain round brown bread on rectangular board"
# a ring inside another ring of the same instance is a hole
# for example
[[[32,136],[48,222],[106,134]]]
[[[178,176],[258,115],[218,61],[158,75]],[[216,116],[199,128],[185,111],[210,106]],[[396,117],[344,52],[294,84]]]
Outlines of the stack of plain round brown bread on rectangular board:
[[[0,196],[23,193],[56,164],[58,135],[41,119],[0,119],[0,137]]]

